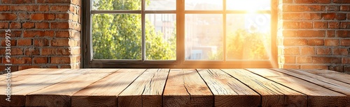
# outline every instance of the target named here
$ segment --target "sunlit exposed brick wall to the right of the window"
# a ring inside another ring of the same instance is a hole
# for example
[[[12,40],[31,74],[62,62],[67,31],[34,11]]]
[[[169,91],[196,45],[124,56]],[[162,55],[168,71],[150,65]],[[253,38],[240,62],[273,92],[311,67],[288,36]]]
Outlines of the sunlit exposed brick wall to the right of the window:
[[[279,0],[279,67],[350,73],[350,0]]]

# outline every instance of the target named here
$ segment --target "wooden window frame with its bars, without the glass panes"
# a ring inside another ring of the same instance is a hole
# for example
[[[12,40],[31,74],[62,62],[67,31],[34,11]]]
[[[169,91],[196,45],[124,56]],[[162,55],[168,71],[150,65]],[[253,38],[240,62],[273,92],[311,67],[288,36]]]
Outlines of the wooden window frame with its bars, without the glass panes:
[[[226,60],[226,15],[248,13],[244,10],[185,10],[184,0],[176,0],[176,10],[146,10],[145,0],[141,0],[141,10],[91,10],[92,0],[82,1],[82,65],[84,68],[276,68],[277,63],[277,0],[271,0],[271,10],[259,10],[258,13],[271,15],[271,52],[269,60]],[[96,13],[137,13],[141,14],[142,59],[141,60],[95,60],[92,59],[92,15]],[[147,13],[176,14],[176,60],[146,60],[145,17]],[[185,56],[185,15],[221,14],[223,15],[223,60],[186,60]]]

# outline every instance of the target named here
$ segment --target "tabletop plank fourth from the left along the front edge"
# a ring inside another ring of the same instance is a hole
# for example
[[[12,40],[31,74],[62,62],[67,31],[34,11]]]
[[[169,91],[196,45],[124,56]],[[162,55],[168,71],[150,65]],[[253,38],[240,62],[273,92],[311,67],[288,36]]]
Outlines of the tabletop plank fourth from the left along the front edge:
[[[147,69],[118,96],[118,106],[162,106],[169,69]]]

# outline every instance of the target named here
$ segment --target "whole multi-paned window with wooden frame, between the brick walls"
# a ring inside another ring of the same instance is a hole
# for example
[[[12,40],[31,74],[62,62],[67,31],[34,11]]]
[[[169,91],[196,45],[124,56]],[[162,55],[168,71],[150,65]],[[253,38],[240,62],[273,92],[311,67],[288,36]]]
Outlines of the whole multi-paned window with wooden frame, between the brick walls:
[[[84,1],[84,67],[276,67],[271,0]]]

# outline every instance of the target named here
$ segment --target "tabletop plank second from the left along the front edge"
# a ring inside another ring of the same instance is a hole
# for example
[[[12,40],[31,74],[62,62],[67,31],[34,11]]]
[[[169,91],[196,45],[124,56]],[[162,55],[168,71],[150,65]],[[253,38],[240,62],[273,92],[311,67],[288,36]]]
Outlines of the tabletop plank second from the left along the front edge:
[[[82,69],[84,74],[31,92],[26,96],[26,106],[71,106],[71,95],[87,85],[116,72],[118,69]],[[45,79],[52,81],[53,79]]]

